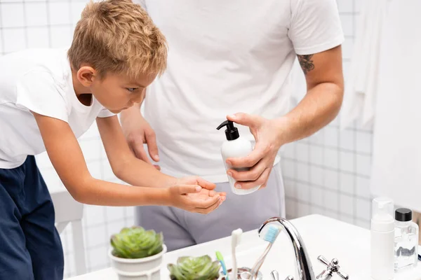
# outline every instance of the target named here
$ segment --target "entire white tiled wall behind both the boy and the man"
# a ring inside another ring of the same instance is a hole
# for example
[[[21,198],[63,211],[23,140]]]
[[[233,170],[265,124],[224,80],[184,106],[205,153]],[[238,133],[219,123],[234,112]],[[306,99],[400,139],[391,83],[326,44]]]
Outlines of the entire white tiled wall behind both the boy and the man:
[[[363,0],[338,0],[345,31],[345,77],[352,59],[354,27]],[[86,0],[0,0],[0,55],[25,48],[66,47]],[[1,128],[0,128],[1,133]],[[282,155],[287,215],[324,214],[368,227],[371,162],[370,130],[357,126],[340,131],[338,119],[309,139],[289,144]],[[91,174],[116,181],[93,125],[79,139]],[[47,155],[37,162],[49,186],[61,186]],[[88,271],[109,265],[109,236],[133,224],[133,208],[86,206],[83,218]],[[72,232],[62,234],[65,275],[74,275]]]

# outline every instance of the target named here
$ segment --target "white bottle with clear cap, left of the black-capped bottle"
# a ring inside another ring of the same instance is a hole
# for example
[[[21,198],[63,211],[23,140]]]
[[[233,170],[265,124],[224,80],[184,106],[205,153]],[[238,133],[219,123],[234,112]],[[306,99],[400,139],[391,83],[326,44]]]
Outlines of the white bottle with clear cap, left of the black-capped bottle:
[[[371,218],[371,279],[394,279],[394,203],[387,197],[373,200]]]

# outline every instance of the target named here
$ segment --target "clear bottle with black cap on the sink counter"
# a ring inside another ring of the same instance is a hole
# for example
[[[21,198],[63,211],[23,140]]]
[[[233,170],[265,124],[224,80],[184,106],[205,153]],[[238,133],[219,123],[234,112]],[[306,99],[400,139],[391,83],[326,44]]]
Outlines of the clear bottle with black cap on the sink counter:
[[[395,272],[414,268],[418,262],[419,228],[412,221],[412,211],[399,208],[395,211]]]

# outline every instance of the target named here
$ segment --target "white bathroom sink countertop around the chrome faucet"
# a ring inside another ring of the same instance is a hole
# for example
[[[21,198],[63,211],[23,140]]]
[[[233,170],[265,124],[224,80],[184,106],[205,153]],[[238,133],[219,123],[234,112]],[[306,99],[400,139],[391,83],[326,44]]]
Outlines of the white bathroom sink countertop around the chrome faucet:
[[[262,221],[263,222],[263,221]],[[309,252],[314,274],[319,274],[325,268],[317,260],[323,255],[328,260],[338,258],[342,270],[349,274],[349,279],[370,280],[370,230],[359,228],[333,218],[320,215],[310,215],[291,220],[298,229]],[[166,253],[163,258],[161,279],[169,279],[166,264],[174,263],[177,258],[183,255],[210,255],[215,258],[215,251],[218,250],[224,255],[227,267],[230,267],[230,237],[217,239],[177,251]],[[257,230],[244,232],[241,244],[237,247],[237,263],[239,266],[253,267],[255,260],[264,250],[266,242],[258,237]],[[279,279],[295,275],[295,257],[293,247],[285,234],[279,235],[272,250],[262,265],[260,271],[265,279],[271,279],[270,272],[276,269],[279,272]],[[81,276],[70,278],[70,280],[118,280],[118,276],[112,268],[102,269]],[[341,279],[334,276],[333,279]],[[395,280],[421,280],[421,263],[417,269],[406,274],[396,274]]]

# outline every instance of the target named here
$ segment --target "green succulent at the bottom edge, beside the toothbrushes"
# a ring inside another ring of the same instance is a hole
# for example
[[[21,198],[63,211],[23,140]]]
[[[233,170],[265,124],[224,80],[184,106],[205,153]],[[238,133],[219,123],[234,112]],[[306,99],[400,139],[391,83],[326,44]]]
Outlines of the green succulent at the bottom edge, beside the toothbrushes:
[[[220,262],[209,255],[180,257],[177,264],[169,264],[171,280],[215,280],[219,278]]]

